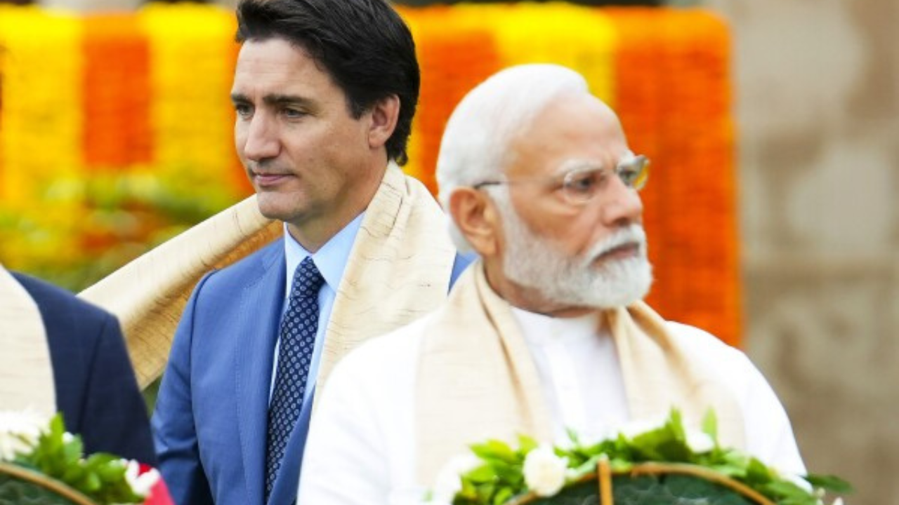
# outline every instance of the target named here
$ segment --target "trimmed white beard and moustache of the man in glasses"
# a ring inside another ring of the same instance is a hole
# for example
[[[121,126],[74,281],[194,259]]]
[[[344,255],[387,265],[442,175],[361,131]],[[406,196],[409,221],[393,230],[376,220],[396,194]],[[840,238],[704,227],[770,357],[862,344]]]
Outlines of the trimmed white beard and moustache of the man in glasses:
[[[535,235],[512,208],[511,201],[498,205],[503,215],[506,278],[524,288],[533,288],[547,299],[565,306],[613,308],[642,299],[653,283],[652,265],[646,257],[643,227],[633,224],[590,251],[576,257],[559,252],[547,239]],[[639,244],[636,257],[593,265],[603,253],[623,244]]]

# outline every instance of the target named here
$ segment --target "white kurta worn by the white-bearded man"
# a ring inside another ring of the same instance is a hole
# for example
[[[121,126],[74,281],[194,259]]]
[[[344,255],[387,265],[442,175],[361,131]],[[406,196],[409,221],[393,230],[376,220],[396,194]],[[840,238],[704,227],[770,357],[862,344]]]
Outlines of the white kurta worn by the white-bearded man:
[[[635,421],[608,335],[596,335],[589,319],[514,314],[560,441],[566,427],[597,437]],[[309,431],[298,503],[406,505],[419,503],[432,486],[415,479],[414,381],[427,319],[367,342],[334,369]],[[784,473],[804,474],[787,413],[743,352],[691,326],[668,323],[668,330],[691,359],[713,367],[733,391],[745,420],[746,450]]]

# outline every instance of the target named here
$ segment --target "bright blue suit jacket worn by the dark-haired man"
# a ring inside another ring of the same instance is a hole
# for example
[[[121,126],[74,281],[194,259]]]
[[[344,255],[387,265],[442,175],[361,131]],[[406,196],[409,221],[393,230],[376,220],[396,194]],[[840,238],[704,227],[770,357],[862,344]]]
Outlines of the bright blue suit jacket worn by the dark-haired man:
[[[457,257],[453,280],[470,259]],[[175,332],[153,416],[165,483],[180,505],[263,505],[283,239],[194,289]],[[268,503],[296,500],[311,402],[300,412]]]

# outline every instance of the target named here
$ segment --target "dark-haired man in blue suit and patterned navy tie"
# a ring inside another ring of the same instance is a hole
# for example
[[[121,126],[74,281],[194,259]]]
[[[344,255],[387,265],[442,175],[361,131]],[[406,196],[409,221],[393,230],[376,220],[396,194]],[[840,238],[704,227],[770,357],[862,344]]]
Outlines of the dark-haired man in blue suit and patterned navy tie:
[[[385,0],[243,0],[235,144],[283,238],[194,288],[153,418],[181,505],[289,505],[316,388],[431,311],[467,260],[405,176],[414,42]]]

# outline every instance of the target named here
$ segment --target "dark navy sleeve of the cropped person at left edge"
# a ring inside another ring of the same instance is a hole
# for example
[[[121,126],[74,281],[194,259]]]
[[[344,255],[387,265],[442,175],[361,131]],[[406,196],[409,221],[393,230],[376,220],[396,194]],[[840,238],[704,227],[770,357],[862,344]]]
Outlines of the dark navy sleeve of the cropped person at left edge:
[[[110,452],[156,466],[147,405],[138,390],[128,350],[111,315],[105,315],[85,386],[81,436],[87,452]]]

